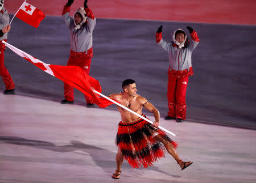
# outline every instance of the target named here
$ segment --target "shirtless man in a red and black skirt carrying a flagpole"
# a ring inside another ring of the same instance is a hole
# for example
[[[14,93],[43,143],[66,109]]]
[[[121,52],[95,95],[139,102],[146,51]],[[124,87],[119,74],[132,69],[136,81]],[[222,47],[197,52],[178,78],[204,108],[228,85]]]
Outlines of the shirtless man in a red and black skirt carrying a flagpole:
[[[151,125],[135,114],[117,106],[122,121],[119,122],[115,140],[118,146],[118,152],[115,156],[117,169],[112,177],[120,178],[123,159],[126,159],[133,168],[142,166],[146,168],[157,159],[162,158],[165,149],[174,157],[181,170],[191,165],[191,161],[185,162],[179,158],[175,150],[177,143],[157,128],[159,126],[159,111],[144,97],[136,93],[135,81],[132,79],[124,80],[122,88],[123,92],[114,93],[109,97],[142,116],[144,116],[142,108],[146,108],[154,114],[155,122]]]

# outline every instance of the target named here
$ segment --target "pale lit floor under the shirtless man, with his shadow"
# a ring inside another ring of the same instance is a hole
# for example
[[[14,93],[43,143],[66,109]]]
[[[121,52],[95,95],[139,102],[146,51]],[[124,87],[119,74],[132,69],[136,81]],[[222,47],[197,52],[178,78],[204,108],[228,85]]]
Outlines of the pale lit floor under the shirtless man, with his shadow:
[[[0,94],[0,182],[116,182],[116,110]],[[153,120],[152,116],[148,116]],[[154,167],[131,169],[119,182],[254,182],[254,130],[160,119],[176,134],[180,170],[166,154]]]

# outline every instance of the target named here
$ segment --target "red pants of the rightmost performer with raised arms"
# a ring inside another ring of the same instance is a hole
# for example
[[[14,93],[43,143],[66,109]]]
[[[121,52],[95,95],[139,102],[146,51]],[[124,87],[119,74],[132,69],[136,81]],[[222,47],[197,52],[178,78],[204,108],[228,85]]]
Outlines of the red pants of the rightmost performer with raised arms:
[[[168,77],[168,116],[186,119],[186,90],[188,85],[188,76],[177,78],[169,74]]]

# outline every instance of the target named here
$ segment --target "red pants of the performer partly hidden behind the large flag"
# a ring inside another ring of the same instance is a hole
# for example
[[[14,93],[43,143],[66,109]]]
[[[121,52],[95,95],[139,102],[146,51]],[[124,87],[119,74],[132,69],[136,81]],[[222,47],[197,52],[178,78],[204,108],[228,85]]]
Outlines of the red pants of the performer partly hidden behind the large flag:
[[[90,58],[73,58],[72,56],[69,57],[68,59],[68,64],[67,66],[80,66],[84,68],[85,73],[89,75],[90,71]],[[65,100],[68,101],[73,101],[74,100],[74,92],[73,92],[73,87],[70,86],[67,83],[64,83],[64,96]],[[90,99],[88,96],[85,96],[86,103],[93,104],[93,100]]]

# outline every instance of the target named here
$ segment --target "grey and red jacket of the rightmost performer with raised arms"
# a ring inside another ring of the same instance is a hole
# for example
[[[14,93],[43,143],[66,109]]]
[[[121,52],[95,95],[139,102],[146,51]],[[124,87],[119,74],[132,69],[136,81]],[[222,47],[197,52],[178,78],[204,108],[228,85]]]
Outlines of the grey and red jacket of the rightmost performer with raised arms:
[[[175,31],[176,32],[176,31]],[[192,41],[186,41],[183,48],[179,48],[174,42],[163,40],[162,32],[156,32],[156,42],[169,54],[170,70],[172,76],[182,78],[193,75],[191,57],[192,52],[199,44],[199,37],[193,31],[191,33]]]

